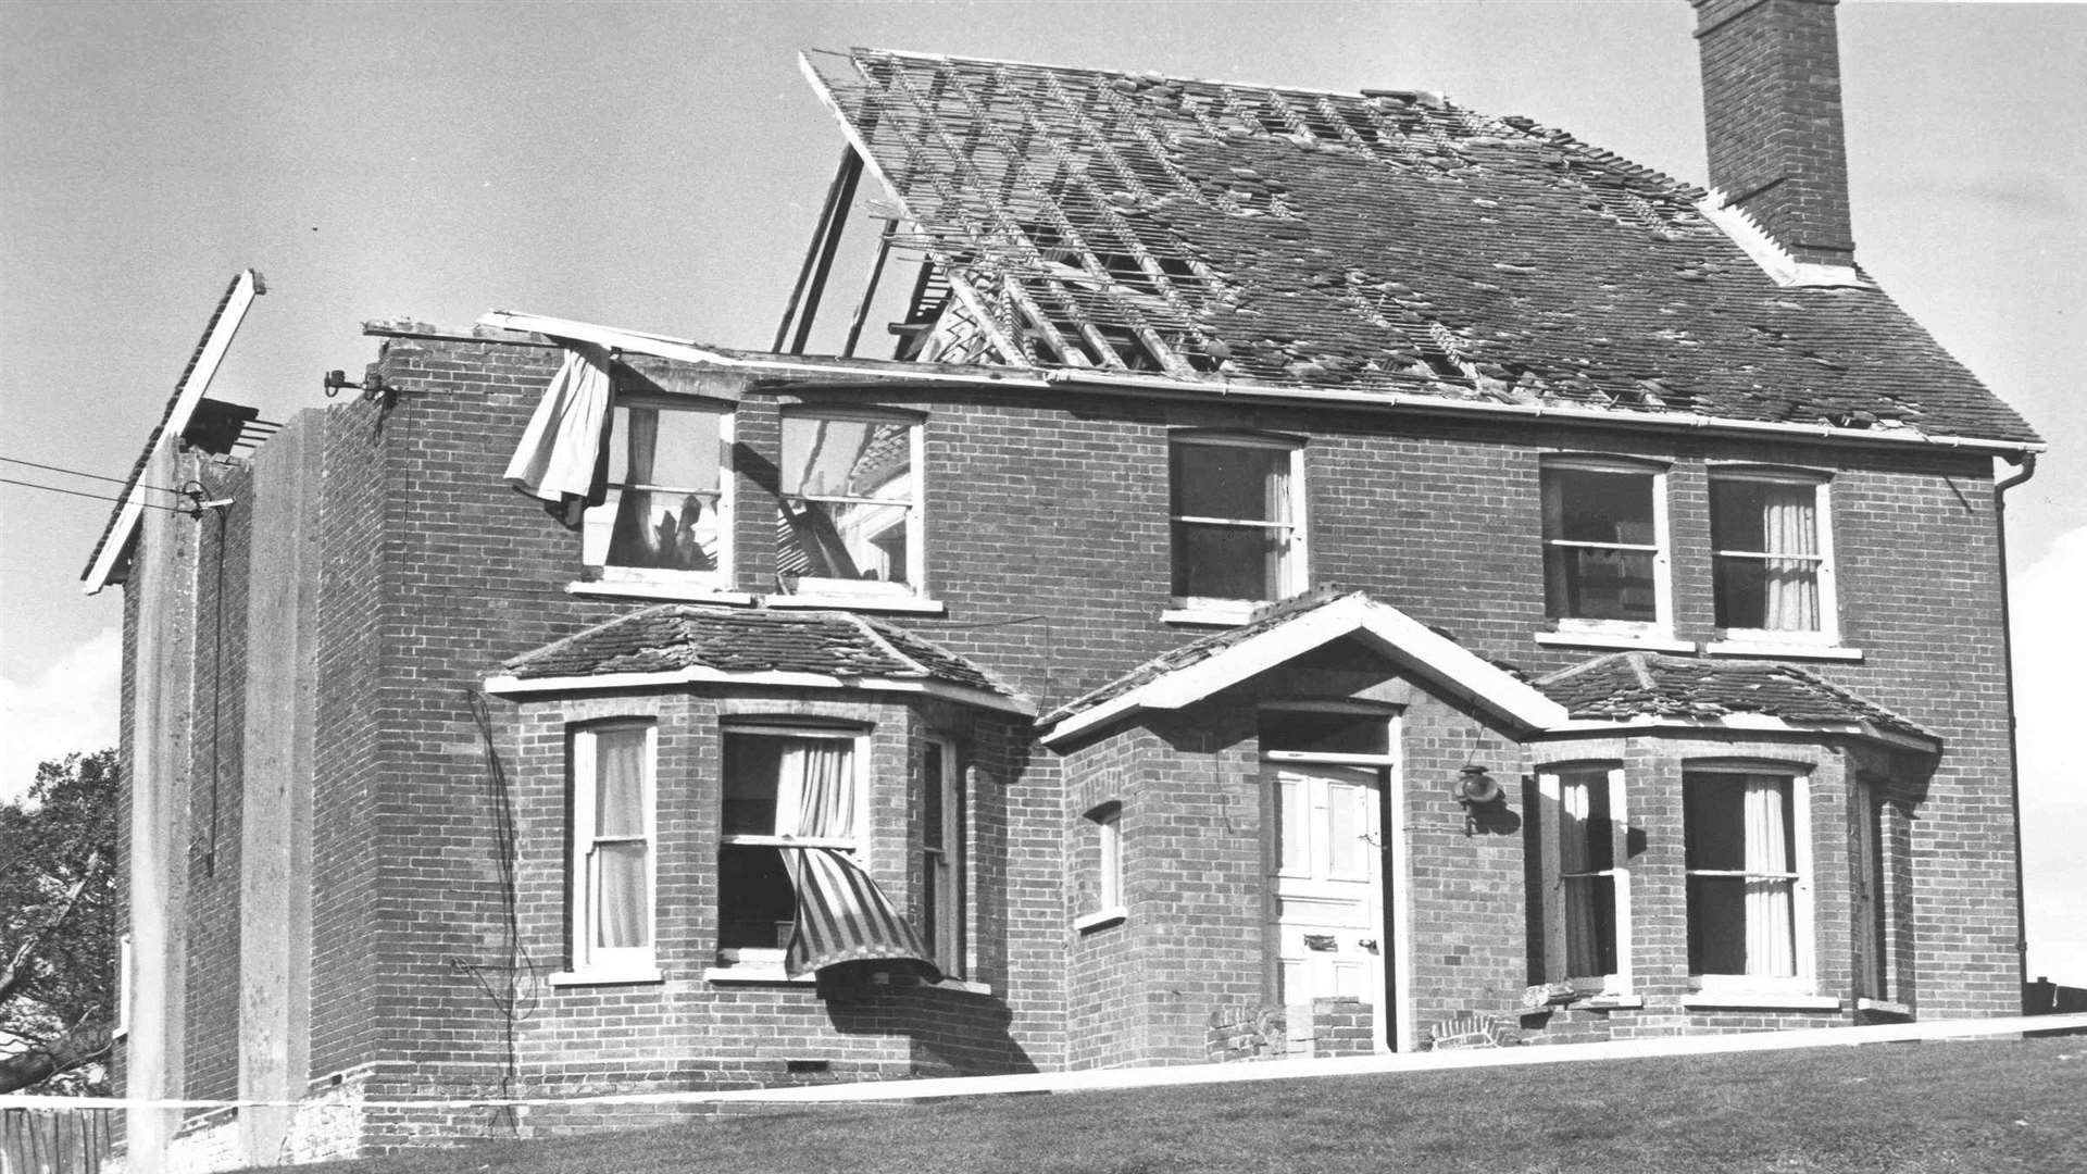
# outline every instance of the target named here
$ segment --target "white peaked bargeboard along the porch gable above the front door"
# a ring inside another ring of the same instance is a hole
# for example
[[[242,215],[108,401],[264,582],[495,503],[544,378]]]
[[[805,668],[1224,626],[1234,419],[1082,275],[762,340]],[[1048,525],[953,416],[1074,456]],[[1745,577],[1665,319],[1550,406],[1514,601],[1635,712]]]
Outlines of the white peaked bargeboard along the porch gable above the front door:
[[[1442,637],[1390,604],[1350,597],[1231,645],[1196,664],[1148,681],[1121,698],[1073,714],[1044,735],[1056,746],[1135,710],[1177,710],[1267,673],[1344,635],[1369,635],[1398,660],[1463,687],[1473,700],[1501,710],[1532,729],[1549,729],[1567,719],[1565,706],[1480,660],[1457,641]]]

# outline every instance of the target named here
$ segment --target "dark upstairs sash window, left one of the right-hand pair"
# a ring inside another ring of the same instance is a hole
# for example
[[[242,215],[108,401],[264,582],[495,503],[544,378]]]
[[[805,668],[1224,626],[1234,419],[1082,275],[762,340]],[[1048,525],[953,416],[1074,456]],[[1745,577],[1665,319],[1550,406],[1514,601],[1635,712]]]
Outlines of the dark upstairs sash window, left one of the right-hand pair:
[[[1544,610],[1559,627],[1668,625],[1665,472],[1546,462]]]

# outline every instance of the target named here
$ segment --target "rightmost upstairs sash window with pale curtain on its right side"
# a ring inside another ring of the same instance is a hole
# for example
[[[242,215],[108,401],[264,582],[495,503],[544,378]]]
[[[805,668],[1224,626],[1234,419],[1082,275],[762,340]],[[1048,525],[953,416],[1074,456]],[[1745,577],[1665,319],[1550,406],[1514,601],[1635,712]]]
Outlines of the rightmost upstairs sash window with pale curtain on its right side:
[[[1832,631],[1826,483],[1770,472],[1709,480],[1718,627],[1778,637]]]

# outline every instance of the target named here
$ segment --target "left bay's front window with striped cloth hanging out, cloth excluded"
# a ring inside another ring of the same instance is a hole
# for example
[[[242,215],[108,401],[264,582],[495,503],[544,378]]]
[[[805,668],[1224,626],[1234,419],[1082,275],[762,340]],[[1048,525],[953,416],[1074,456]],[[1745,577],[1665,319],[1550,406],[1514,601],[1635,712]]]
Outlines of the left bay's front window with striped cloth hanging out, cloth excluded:
[[[724,813],[718,842],[718,957],[781,963],[797,923],[793,848],[854,859],[856,733],[795,727],[724,731]]]

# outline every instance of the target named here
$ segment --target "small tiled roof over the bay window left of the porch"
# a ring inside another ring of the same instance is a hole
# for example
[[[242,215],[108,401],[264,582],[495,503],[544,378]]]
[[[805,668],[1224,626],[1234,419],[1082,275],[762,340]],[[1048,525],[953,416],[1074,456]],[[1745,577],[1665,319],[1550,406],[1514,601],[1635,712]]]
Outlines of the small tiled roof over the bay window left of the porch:
[[[626,673],[814,673],[839,679],[943,681],[1016,694],[918,635],[849,612],[770,612],[662,604],[518,656],[505,668],[522,681],[616,677]]]

